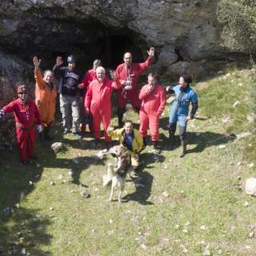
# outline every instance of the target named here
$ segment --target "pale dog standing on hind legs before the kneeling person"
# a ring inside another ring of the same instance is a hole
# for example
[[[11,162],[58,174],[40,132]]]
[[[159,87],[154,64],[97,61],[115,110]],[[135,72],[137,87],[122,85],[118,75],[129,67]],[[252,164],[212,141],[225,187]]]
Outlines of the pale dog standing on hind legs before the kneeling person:
[[[112,201],[114,188],[118,186],[120,188],[118,202],[122,202],[122,192],[125,190],[126,186],[126,174],[129,173],[130,175],[130,153],[126,147],[122,145],[114,146],[112,152],[117,156],[118,161],[116,166],[114,166],[112,163],[109,163],[107,166],[107,177],[109,177],[112,181],[109,201]]]

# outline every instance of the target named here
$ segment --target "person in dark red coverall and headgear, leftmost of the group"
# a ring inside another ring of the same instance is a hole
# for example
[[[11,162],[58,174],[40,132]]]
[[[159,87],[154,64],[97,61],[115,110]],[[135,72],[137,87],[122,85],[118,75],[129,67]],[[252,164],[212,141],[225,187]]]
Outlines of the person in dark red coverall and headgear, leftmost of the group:
[[[2,118],[6,113],[14,112],[18,149],[22,163],[27,165],[35,158],[34,144],[36,140],[35,120],[38,132],[42,132],[42,121],[35,102],[28,98],[26,86],[18,84],[18,99],[10,102],[0,110]]]

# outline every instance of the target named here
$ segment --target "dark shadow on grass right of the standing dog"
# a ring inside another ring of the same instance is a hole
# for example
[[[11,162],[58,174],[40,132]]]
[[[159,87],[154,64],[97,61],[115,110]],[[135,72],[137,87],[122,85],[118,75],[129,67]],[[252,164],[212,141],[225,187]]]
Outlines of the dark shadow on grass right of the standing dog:
[[[154,177],[147,171],[140,173],[139,177],[141,178],[140,182],[136,183],[136,180],[134,181],[134,186],[136,188],[134,193],[126,194],[123,199],[127,201],[136,201],[142,205],[153,205],[153,202],[147,200],[151,194]]]

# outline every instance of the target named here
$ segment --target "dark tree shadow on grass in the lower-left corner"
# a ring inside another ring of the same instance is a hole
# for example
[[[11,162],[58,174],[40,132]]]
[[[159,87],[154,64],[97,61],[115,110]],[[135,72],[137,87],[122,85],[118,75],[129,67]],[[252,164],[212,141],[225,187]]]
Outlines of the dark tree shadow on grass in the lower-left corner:
[[[0,255],[22,255],[25,250],[31,255],[51,255],[39,249],[50,244],[51,236],[46,233],[50,218],[20,207],[40,180],[42,167],[23,166],[16,158],[17,151],[9,159],[1,158]]]

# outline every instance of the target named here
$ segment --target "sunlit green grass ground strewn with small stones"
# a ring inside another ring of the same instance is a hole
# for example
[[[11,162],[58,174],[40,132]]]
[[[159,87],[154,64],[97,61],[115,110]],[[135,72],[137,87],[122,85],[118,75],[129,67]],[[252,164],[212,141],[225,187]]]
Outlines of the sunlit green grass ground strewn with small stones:
[[[188,126],[188,154],[178,158],[178,139],[174,150],[168,150],[168,132],[161,129],[161,162],[154,162],[151,146],[143,151],[144,186],[135,187],[127,178],[122,204],[108,202],[110,187],[102,187],[106,162],[113,158],[93,158],[98,150],[90,146],[91,138],[62,138],[60,124],[55,126],[56,138],[67,145],[65,153],[56,156],[50,144],[46,149],[38,145],[39,165],[26,168],[16,151],[1,154],[0,255],[8,255],[8,250],[22,255],[26,248],[30,255],[194,256],[202,255],[206,246],[212,255],[254,255],[255,238],[248,234],[255,224],[256,205],[255,198],[244,193],[244,181],[255,174],[255,167],[248,166],[255,164],[255,138],[228,136],[254,129],[246,121],[252,83],[247,70],[232,73],[232,78],[194,86],[200,109]],[[233,107],[236,101],[241,104]],[[168,108],[161,119],[163,128]],[[138,123],[136,114],[128,117]],[[230,121],[223,123],[227,117]],[[116,118],[112,122],[116,124]],[[226,147],[219,149],[220,145]],[[82,190],[90,198],[82,198]],[[13,213],[4,214],[6,206]]]

